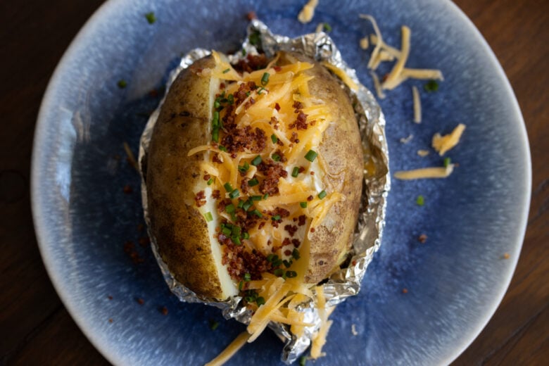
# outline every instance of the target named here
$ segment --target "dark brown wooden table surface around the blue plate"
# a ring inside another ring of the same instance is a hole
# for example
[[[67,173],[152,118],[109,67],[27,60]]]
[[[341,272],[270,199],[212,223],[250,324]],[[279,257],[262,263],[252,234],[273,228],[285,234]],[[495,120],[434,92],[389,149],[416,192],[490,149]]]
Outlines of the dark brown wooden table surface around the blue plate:
[[[42,95],[72,38],[102,2],[0,4],[1,365],[108,365],[51,285],[34,236],[29,194]],[[549,1],[455,2],[484,35],[515,89],[534,174],[526,237],[510,287],[454,365],[549,365]]]

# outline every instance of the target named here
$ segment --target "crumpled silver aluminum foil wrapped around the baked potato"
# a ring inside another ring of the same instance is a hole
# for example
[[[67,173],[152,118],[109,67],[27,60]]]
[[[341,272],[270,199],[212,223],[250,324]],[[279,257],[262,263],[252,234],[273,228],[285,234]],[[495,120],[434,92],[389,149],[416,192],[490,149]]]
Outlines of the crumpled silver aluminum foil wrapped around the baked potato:
[[[259,39],[259,42],[250,42],[252,36]],[[274,56],[277,51],[298,51],[317,61],[327,61],[337,66],[351,79],[359,85],[358,91],[353,92],[342,84],[342,87],[351,96],[355,115],[357,117],[362,146],[365,151],[365,175],[364,188],[362,189],[362,204],[360,206],[360,215],[358,225],[355,229],[353,241],[353,257],[349,261],[348,267],[334,273],[322,286],[324,287],[324,296],[327,301],[327,311],[344,301],[348,296],[358,294],[360,283],[365,275],[366,267],[370,264],[374,253],[381,244],[381,234],[385,223],[386,196],[390,188],[389,178],[389,156],[387,142],[385,137],[385,118],[381,112],[379,104],[375,100],[372,92],[366,89],[358,77],[355,70],[341,58],[341,53],[336,48],[332,39],[324,32],[305,34],[301,37],[290,39],[277,34],[272,34],[267,26],[259,20],[252,20],[248,25],[248,37],[242,44],[242,49],[246,54],[257,54],[259,51],[266,53],[267,56]],[[175,80],[179,72],[188,68],[194,61],[207,56],[210,51],[206,49],[194,49],[184,56],[175,70],[170,74],[166,85],[166,93],[170,85]],[[229,61],[236,63],[243,58],[243,52],[237,52],[229,56]],[[147,209],[146,185],[144,175],[146,174],[146,156],[149,150],[149,141],[153,127],[158,119],[160,108],[164,99],[156,111],[149,118],[139,146],[139,167],[141,168],[141,196],[143,198],[144,217],[147,225],[150,223],[149,210]],[[222,310],[225,318],[234,318],[239,322],[248,324],[251,320],[251,312],[241,302],[241,297],[235,296],[225,302],[212,301],[208,298],[201,298],[187,289],[183,284],[177,282],[168,270],[168,266],[158,255],[158,246],[156,239],[151,232],[151,247],[158,260],[158,265],[163,272],[165,281],[170,286],[172,292],[181,301],[188,303],[205,303],[216,306]],[[282,352],[282,360],[286,364],[294,362],[310,346],[311,340],[320,327],[320,315],[317,309],[316,300],[312,299],[307,303],[298,306],[298,310],[304,313],[304,322],[314,324],[306,327],[303,336],[298,337],[291,334],[290,327],[286,324],[271,322],[269,327],[285,341]]]

